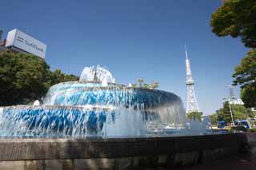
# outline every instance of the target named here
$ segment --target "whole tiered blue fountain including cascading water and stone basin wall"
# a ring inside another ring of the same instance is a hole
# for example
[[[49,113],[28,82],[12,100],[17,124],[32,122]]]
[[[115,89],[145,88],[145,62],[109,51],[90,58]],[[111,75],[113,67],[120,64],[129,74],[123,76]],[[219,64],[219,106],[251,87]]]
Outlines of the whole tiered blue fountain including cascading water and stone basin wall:
[[[208,121],[199,124],[187,127],[174,93],[120,85],[107,69],[86,67],[41,104],[0,108],[0,169],[171,168],[248,144],[243,133],[202,135]]]

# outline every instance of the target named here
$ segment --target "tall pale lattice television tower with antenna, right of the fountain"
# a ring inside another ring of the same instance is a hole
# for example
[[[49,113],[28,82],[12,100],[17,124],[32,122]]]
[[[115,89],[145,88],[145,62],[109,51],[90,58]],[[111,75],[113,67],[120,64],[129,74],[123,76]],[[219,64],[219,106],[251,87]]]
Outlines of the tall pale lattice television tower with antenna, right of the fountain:
[[[186,50],[186,45],[185,45]],[[190,60],[186,51],[186,113],[200,112],[194,93],[194,80],[190,68]]]

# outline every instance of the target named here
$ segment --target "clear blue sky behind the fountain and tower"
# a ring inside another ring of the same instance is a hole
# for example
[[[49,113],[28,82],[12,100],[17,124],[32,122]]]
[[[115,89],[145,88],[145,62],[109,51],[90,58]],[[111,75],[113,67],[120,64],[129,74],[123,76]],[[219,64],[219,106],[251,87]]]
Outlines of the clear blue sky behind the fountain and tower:
[[[61,0],[1,2],[4,38],[18,28],[48,45],[51,69],[80,76],[105,65],[122,84],[138,77],[182,97],[186,106],[187,45],[199,108],[222,106],[234,66],[246,55],[239,39],[218,38],[210,15],[221,0]],[[239,89],[235,89],[238,96]]]

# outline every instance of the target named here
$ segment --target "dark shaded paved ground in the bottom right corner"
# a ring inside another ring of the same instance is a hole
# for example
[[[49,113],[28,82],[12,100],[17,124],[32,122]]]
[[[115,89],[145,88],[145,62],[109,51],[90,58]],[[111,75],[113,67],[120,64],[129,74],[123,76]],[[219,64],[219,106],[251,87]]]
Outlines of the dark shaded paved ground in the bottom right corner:
[[[256,170],[256,153],[242,153],[222,160],[215,160],[206,164],[192,167],[171,168],[177,170]]]

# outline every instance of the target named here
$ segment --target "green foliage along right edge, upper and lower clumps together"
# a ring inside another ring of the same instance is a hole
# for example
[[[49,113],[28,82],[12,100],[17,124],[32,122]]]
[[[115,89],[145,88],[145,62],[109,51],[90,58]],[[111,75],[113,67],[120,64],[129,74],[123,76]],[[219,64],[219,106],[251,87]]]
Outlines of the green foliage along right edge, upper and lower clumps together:
[[[230,35],[242,38],[248,52],[235,70],[234,85],[241,85],[241,97],[245,106],[256,106],[256,1],[227,0],[212,14],[210,25],[219,37]]]

